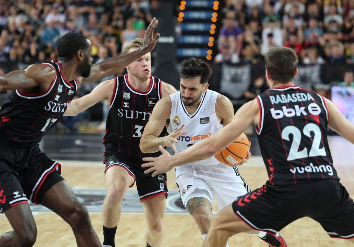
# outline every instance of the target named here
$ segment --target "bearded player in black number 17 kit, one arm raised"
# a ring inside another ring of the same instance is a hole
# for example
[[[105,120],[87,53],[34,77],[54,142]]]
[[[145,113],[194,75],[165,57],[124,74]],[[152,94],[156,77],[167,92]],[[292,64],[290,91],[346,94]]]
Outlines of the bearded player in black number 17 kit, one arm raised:
[[[60,175],[60,164],[39,149],[39,142],[61,118],[80,83],[118,73],[155,47],[157,23],[154,18],[143,47],[133,53],[91,66],[91,42],[68,33],[57,42],[58,60],[0,77],[0,91],[13,90],[0,110],[0,211],[13,227],[0,236],[1,247],[33,246],[37,230],[27,199],[68,222],[78,246],[101,246],[86,208]]]

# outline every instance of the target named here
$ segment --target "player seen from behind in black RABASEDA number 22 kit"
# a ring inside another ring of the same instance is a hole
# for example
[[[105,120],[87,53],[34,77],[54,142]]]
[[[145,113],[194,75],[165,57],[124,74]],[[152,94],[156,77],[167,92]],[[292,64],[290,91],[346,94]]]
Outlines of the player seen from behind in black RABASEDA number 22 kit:
[[[296,219],[308,216],[336,238],[354,241],[354,203],[339,183],[327,141],[327,126],[354,143],[354,126],[326,98],[294,85],[297,55],[274,47],[265,56],[270,89],[244,104],[234,120],[211,138],[170,156],[144,158],[146,173],[215,155],[252,123],[269,180],[237,198],[212,219],[204,246],[222,246],[240,232],[259,230],[274,235]],[[278,246],[278,245],[274,245]]]

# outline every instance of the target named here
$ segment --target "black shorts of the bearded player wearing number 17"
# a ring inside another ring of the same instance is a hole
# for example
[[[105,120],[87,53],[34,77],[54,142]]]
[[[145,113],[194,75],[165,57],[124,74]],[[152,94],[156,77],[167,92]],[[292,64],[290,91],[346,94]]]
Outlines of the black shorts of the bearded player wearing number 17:
[[[15,205],[40,204],[43,195],[63,177],[61,165],[39,149],[0,143],[0,212]]]

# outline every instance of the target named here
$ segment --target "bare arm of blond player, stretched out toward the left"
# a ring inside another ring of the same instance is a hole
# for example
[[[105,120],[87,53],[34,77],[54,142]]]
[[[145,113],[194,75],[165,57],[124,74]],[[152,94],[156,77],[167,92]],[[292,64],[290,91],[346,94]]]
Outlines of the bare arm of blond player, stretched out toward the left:
[[[64,112],[64,116],[76,116],[87,108],[95,105],[101,100],[108,100],[112,97],[114,92],[115,79],[106,80],[96,86],[90,94],[70,102],[69,107]]]

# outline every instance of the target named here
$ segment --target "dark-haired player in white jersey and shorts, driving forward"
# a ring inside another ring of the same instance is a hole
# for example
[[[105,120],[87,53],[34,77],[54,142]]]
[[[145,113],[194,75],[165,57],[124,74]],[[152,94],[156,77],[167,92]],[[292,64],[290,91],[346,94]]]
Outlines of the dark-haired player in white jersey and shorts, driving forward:
[[[140,149],[144,153],[159,151],[159,145],[172,146],[175,152],[182,152],[198,141],[211,137],[233,120],[231,101],[208,89],[211,68],[207,62],[186,59],[182,62],[179,74],[181,92],[160,100],[145,126],[140,140]],[[178,131],[181,136],[159,138],[165,125],[167,132]],[[186,131],[182,132],[184,126]],[[248,152],[248,155],[250,157],[251,153]],[[235,198],[250,192],[237,167],[222,164],[215,157],[178,166],[175,171],[183,205],[193,216],[203,239],[209,230],[214,195],[219,210],[222,210]],[[270,246],[286,246],[280,245],[284,240],[280,234],[277,237],[281,241],[265,232],[260,232],[258,236]]]

